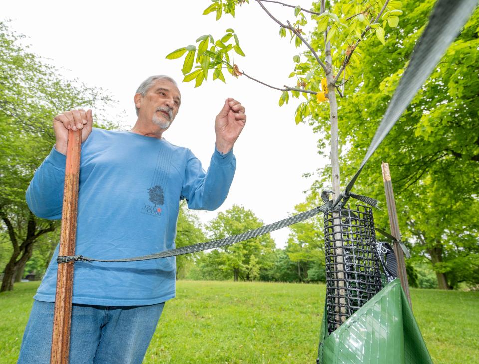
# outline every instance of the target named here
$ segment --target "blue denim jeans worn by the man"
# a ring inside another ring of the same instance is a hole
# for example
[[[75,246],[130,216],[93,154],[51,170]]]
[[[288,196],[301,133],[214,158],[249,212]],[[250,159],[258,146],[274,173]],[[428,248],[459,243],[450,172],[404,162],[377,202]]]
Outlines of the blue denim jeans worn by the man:
[[[141,363],[164,304],[120,307],[73,304],[70,363]],[[54,302],[34,301],[18,363],[50,363],[54,307]]]

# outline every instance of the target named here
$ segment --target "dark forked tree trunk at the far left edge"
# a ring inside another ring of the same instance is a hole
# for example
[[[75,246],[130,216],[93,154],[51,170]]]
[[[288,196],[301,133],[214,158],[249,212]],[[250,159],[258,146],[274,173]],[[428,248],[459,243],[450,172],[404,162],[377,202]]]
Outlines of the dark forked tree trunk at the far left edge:
[[[12,291],[15,277],[19,270],[23,274],[25,264],[30,259],[33,252],[33,244],[41,235],[55,230],[55,225],[50,223],[47,228],[39,229],[37,231],[36,218],[32,212],[29,213],[27,222],[27,233],[24,240],[19,241],[18,234],[15,231],[11,220],[8,215],[0,207],[0,218],[5,223],[8,229],[8,235],[13,245],[13,254],[5,267],[5,274],[3,276],[3,282],[1,283],[0,292]],[[21,279],[21,278],[20,278]]]

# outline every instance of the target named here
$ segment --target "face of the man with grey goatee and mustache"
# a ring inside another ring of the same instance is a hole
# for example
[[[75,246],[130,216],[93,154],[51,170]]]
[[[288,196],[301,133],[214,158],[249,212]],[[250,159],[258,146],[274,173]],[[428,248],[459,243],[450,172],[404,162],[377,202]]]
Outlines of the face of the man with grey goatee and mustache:
[[[178,88],[165,79],[156,80],[145,96],[135,95],[138,116],[151,122],[161,129],[168,129],[181,103]]]

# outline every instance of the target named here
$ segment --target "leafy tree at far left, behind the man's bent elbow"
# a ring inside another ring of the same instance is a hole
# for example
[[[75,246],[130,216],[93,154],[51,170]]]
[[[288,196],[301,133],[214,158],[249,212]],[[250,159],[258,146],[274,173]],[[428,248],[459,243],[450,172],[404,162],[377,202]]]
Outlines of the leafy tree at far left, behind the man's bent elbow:
[[[99,90],[61,79],[22,48],[21,38],[0,23],[0,233],[12,246],[1,291],[13,289],[34,244],[59,226],[35,217],[25,202],[33,173],[55,142],[51,120],[64,110],[109,101]]]

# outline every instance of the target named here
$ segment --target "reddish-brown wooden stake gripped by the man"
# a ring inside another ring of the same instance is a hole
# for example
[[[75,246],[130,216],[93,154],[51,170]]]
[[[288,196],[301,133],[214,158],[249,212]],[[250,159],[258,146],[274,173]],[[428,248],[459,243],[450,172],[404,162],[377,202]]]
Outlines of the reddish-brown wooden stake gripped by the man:
[[[68,130],[60,255],[75,255],[81,130]],[[74,262],[58,264],[50,364],[68,364]]]

